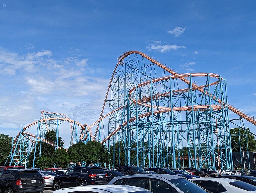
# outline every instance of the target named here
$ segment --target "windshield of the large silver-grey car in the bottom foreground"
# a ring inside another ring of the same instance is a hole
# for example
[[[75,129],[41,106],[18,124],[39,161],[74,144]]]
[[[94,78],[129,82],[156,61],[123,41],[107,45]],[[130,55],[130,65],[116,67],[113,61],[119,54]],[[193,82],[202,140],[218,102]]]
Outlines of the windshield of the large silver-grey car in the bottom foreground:
[[[190,180],[187,180],[184,178],[172,179],[172,180],[169,180],[169,182],[177,186],[183,192],[208,193],[206,190],[202,189],[200,186],[198,186],[194,182],[191,182]]]

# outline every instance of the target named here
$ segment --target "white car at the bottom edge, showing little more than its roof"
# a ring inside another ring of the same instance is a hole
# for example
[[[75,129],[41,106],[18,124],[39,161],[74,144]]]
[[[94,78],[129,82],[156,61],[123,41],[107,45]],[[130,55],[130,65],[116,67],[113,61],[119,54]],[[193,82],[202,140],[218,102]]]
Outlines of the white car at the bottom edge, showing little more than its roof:
[[[122,186],[122,185],[101,185],[101,186],[83,186],[64,188],[56,190],[55,193],[77,193],[77,192],[94,192],[94,193],[152,193],[151,191],[135,187],[135,186]]]

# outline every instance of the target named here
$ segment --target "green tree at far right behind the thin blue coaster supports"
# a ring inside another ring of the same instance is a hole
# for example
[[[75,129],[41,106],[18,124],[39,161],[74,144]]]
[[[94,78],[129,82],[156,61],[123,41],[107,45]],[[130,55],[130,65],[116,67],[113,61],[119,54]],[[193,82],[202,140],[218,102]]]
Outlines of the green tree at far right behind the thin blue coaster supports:
[[[249,128],[240,129],[240,143],[239,128],[232,128],[230,129],[232,152],[240,151],[240,147],[241,150],[247,148],[246,134],[248,141],[248,151],[256,151],[256,140],[254,138],[254,135],[251,134]]]

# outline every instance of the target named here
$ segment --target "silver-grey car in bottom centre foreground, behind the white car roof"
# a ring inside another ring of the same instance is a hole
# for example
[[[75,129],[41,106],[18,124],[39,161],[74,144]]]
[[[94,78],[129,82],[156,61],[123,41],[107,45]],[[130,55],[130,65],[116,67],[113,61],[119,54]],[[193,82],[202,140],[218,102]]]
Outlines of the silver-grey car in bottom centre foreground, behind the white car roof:
[[[209,193],[190,180],[168,174],[137,174],[113,178],[108,184],[146,188],[154,193]]]

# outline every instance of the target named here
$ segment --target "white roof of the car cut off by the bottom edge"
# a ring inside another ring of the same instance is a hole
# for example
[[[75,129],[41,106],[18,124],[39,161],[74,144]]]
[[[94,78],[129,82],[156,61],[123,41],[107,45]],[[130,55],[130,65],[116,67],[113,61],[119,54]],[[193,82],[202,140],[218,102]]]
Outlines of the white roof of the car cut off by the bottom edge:
[[[71,189],[74,189],[74,191],[92,191],[90,189],[100,189],[100,190],[106,190],[113,193],[126,193],[126,192],[132,192],[132,191],[148,191],[147,189],[136,187],[136,186],[127,186],[127,185],[100,185],[100,186],[77,186],[77,187],[71,187],[71,188],[64,188],[61,190],[57,190],[56,192],[70,192]]]

